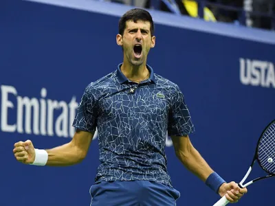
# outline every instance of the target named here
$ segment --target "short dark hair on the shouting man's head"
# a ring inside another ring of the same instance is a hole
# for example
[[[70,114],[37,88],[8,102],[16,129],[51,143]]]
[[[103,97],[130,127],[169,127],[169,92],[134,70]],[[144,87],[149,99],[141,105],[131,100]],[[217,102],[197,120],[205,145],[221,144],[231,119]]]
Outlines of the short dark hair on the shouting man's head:
[[[125,27],[126,27],[126,21],[133,21],[137,23],[137,21],[149,21],[151,24],[150,32],[151,36],[154,36],[155,27],[154,22],[152,19],[152,16],[149,12],[147,12],[144,9],[141,8],[134,8],[123,14],[123,16],[120,18],[120,22],[118,24],[118,32],[120,35],[123,36]]]

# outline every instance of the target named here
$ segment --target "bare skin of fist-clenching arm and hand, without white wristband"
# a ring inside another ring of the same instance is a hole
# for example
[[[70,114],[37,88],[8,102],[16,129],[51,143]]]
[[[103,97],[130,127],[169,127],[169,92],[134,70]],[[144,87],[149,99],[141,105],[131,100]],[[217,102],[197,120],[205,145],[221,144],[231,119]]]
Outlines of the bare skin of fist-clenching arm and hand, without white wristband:
[[[80,163],[85,159],[94,133],[76,130],[72,141],[56,148],[47,149],[48,159],[46,165],[67,166]],[[14,157],[22,163],[33,163],[35,158],[32,141],[19,141],[14,144]]]

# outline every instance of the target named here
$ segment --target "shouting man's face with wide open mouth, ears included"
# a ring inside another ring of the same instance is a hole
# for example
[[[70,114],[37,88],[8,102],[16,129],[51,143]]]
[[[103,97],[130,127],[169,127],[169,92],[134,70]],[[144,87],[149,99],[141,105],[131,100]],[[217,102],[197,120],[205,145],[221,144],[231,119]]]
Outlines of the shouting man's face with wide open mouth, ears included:
[[[117,43],[131,65],[142,65],[150,49],[155,47],[155,36],[151,36],[150,28],[149,21],[127,21],[123,36],[117,35]]]

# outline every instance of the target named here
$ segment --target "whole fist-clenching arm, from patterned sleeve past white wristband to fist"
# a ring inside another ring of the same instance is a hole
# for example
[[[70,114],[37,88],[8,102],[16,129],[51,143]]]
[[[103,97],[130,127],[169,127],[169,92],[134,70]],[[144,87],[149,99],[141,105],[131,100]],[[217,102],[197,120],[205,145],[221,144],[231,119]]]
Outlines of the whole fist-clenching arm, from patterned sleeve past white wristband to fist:
[[[19,141],[14,144],[14,156],[26,164],[66,166],[80,163],[86,157],[91,139],[96,130],[98,117],[98,97],[94,87],[89,84],[78,106],[78,113],[72,126],[77,129],[72,141],[47,150],[34,150],[32,141]],[[90,132],[87,132],[90,131]],[[35,158],[37,157],[37,158]]]

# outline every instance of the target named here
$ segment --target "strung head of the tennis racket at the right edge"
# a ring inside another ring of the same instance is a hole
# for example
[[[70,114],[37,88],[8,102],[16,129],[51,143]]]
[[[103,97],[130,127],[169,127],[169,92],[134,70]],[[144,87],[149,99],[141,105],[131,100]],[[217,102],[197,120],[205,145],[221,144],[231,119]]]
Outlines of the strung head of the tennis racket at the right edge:
[[[254,158],[265,172],[275,175],[275,119],[261,133]]]

